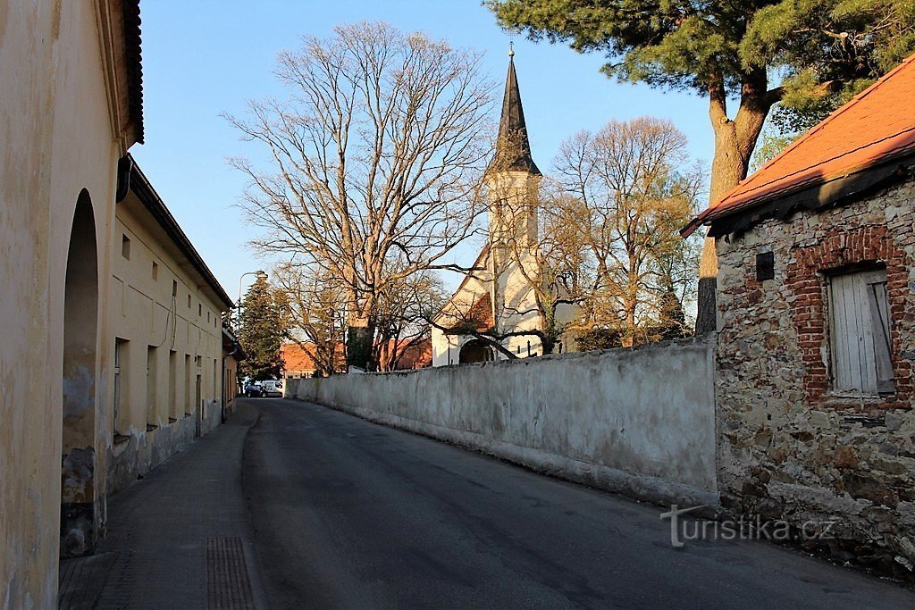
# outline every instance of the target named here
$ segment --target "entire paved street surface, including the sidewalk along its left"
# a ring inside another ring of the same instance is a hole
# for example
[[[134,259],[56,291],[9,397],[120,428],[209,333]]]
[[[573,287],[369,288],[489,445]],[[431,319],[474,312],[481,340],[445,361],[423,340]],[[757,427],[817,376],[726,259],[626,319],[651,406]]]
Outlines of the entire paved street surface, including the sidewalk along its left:
[[[109,501],[63,608],[886,607],[894,583],[762,542],[670,543],[642,505],[314,404],[230,421]]]

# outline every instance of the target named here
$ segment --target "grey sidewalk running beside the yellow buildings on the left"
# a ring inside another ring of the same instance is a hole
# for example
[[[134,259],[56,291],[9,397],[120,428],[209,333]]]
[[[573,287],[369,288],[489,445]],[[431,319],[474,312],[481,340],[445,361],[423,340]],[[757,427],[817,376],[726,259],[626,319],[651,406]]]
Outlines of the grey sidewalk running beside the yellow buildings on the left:
[[[108,501],[104,540],[60,563],[61,608],[254,608],[242,448],[257,412],[228,423]]]

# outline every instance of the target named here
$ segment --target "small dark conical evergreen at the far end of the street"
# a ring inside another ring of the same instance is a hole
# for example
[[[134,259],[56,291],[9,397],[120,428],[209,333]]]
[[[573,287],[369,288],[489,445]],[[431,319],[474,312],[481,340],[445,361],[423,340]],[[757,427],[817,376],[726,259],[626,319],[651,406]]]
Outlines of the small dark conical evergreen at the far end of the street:
[[[280,345],[283,343],[283,303],[281,295],[258,277],[242,300],[238,338],[245,359],[239,363],[239,376],[253,380],[279,377],[283,369]]]

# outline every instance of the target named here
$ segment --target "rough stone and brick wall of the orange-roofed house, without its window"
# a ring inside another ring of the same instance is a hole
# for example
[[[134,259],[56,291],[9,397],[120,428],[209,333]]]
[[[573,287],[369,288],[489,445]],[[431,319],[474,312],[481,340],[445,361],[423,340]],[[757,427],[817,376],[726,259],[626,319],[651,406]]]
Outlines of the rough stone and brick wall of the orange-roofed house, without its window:
[[[736,513],[835,520],[841,559],[882,569],[915,564],[915,181],[869,201],[717,240],[718,485]],[[775,277],[759,282],[756,255]],[[886,265],[896,391],[831,391],[827,277]]]

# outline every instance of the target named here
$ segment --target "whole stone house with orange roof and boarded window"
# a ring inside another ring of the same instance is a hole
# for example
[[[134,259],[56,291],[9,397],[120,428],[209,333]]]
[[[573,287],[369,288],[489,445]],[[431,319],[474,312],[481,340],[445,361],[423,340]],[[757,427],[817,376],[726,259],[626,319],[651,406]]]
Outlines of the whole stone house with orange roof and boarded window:
[[[913,170],[915,56],[684,230],[716,238],[723,505],[909,571]]]

